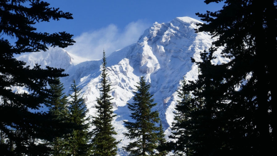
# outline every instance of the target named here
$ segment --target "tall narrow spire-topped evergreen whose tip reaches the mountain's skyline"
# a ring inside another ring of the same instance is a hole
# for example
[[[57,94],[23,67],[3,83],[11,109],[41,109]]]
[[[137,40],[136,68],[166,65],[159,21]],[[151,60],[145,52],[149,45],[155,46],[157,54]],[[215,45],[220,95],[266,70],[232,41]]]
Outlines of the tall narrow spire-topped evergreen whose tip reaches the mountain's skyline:
[[[117,132],[114,131],[112,120],[113,117],[113,106],[110,100],[111,96],[109,92],[111,91],[111,85],[108,81],[108,70],[106,68],[107,62],[105,57],[105,51],[103,51],[103,62],[102,62],[102,72],[101,72],[101,88],[102,92],[100,98],[97,98],[96,116],[92,119],[92,125],[95,128],[92,130],[92,145],[93,145],[93,155],[104,155],[104,156],[114,156],[117,153],[117,144],[120,141],[116,141],[113,135]]]

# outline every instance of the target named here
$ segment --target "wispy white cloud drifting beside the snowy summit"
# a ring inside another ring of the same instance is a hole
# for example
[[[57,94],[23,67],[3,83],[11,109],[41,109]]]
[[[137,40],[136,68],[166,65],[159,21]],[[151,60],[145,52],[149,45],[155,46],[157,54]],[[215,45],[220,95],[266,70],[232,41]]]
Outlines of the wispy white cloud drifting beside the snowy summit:
[[[76,43],[65,50],[92,60],[102,59],[103,49],[109,56],[113,51],[136,42],[149,26],[151,25],[143,20],[129,23],[124,30],[119,30],[116,25],[110,24],[105,28],[75,37]]]

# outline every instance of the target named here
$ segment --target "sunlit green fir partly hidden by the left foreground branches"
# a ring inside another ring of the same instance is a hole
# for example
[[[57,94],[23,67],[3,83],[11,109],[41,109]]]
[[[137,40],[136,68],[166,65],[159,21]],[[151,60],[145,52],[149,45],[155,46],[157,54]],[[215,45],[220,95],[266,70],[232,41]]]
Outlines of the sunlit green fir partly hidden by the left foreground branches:
[[[67,96],[63,93],[63,84],[59,78],[55,78],[58,84],[50,84],[50,93],[52,95],[45,100],[45,105],[49,108],[49,114],[54,116],[54,120],[60,121],[60,123],[67,122],[69,112],[67,110]],[[64,156],[65,151],[65,135],[62,137],[56,137],[52,142],[49,142],[49,146],[52,149],[51,154],[53,156]]]

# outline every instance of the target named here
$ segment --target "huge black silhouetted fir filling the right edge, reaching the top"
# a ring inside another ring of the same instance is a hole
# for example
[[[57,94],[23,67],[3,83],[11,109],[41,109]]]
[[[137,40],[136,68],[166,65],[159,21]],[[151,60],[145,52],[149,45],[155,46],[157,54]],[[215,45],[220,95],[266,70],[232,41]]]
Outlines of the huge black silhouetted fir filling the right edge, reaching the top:
[[[273,117],[276,82],[274,57],[268,56],[277,49],[276,0],[226,0],[224,3],[219,11],[197,13],[207,22],[199,24],[197,32],[205,31],[218,37],[213,44],[224,46],[222,56],[230,58],[228,63],[214,65],[213,70],[202,71],[212,75],[211,80],[221,79],[222,82],[216,86],[218,91],[211,90],[204,97],[225,102],[221,105],[225,108],[218,122],[218,129],[224,132],[211,137],[214,144],[223,146],[206,154],[271,155],[276,123]],[[202,146],[208,144],[202,142],[204,138],[199,141]]]

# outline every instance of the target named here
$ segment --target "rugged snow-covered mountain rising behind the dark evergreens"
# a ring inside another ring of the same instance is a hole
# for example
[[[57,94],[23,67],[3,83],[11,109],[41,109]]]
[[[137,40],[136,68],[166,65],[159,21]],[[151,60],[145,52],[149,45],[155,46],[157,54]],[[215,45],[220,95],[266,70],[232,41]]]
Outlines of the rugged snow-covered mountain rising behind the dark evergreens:
[[[211,46],[211,36],[207,33],[195,33],[196,24],[200,21],[190,17],[177,17],[170,23],[154,23],[145,30],[138,41],[130,46],[114,51],[107,57],[109,81],[113,86],[110,92],[114,113],[117,114],[113,125],[118,135],[119,155],[126,152],[121,149],[130,140],[123,136],[127,132],[123,120],[130,120],[130,112],[126,103],[132,103],[135,85],[140,76],[145,76],[151,85],[150,93],[157,105],[166,137],[170,135],[170,126],[173,122],[173,111],[178,97],[176,90],[183,76],[187,80],[195,80],[198,68],[191,63],[190,57],[201,61],[200,51]],[[213,63],[223,63],[228,60],[220,57],[219,49],[214,55],[217,59]],[[101,60],[88,60],[66,52],[59,48],[51,48],[47,52],[37,52],[18,57],[31,67],[36,63],[41,67],[50,66],[64,68],[70,76],[61,79],[66,93],[69,93],[70,84],[74,79],[82,88],[89,113],[94,115],[96,98],[100,96],[100,67]]]

